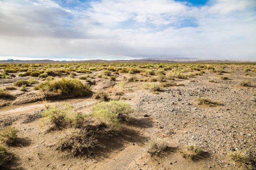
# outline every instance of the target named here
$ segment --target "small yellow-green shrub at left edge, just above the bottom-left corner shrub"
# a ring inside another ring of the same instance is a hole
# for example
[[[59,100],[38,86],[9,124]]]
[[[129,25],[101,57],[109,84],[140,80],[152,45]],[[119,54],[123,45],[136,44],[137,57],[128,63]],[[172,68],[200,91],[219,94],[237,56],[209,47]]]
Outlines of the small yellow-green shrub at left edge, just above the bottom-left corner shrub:
[[[18,129],[15,127],[8,127],[0,132],[0,140],[4,143],[11,144],[14,143],[17,138]]]

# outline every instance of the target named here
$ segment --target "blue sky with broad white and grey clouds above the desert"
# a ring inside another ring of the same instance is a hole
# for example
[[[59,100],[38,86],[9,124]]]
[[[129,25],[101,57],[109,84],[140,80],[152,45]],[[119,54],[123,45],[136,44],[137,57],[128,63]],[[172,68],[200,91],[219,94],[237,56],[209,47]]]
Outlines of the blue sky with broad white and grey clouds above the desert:
[[[256,59],[256,0],[0,0],[0,60]]]

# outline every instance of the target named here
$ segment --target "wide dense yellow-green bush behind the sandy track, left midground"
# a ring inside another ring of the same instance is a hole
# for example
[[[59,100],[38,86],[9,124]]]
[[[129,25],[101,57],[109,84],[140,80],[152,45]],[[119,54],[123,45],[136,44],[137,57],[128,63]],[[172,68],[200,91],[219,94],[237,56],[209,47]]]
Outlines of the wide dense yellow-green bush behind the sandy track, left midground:
[[[90,95],[91,92],[90,85],[85,85],[80,80],[70,78],[54,78],[54,80],[41,83],[38,88],[44,93],[73,94],[79,97]]]

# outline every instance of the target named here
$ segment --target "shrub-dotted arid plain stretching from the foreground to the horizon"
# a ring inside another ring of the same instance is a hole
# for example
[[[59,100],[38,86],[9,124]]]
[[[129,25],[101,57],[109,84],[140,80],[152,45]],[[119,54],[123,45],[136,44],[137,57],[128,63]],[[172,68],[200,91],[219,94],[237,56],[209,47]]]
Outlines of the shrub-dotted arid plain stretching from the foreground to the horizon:
[[[0,92],[0,130],[17,129],[11,143],[1,133],[2,169],[255,169],[254,63],[0,64]],[[132,110],[110,119],[95,111],[103,100]],[[49,116],[63,103],[82,125]],[[82,128],[91,147],[59,147]]]

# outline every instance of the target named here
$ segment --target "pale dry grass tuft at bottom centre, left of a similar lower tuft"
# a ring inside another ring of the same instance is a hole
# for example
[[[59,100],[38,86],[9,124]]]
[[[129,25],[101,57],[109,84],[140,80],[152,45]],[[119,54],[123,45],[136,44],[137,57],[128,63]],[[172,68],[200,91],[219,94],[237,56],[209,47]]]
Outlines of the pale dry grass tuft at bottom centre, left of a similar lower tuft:
[[[150,154],[151,157],[154,155],[162,155],[164,151],[168,149],[168,143],[160,138],[151,138],[147,142],[146,145],[146,152]]]

